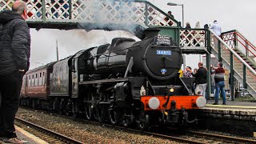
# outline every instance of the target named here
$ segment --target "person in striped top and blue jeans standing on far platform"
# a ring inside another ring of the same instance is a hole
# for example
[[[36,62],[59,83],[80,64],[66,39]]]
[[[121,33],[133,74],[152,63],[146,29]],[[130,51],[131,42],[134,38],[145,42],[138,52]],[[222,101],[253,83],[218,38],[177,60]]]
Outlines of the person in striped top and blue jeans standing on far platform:
[[[222,62],[218,62],[218,68],[216,70],[212,70],[213,73],[215,73],[214,81],[215,81],[215,102],[213,105],[218,105],[218,94],[219,91],[221,91],[223,102],[222,105],[226,105],[226,93],[225,93],[225,82],[224,82],[224,76],[225,76],[225,70],[223,69]]]

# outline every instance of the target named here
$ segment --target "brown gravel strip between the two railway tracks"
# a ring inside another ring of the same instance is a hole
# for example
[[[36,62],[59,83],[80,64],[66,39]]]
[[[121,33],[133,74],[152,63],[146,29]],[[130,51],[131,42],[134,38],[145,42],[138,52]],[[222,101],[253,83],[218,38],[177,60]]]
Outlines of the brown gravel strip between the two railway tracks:
[[[85,143],[178,143],[153,136],[114,130],[110,127],[74,122],[68,118],[44,114],[36,110],[20,108],[16,116]]]

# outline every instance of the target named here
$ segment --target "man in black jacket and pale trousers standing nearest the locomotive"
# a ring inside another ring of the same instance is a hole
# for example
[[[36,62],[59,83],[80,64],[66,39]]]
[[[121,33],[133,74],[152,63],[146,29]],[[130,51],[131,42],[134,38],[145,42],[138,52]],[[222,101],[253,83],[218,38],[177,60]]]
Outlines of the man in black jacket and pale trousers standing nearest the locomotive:
[[[203,67],[202,62],[198,62],[198,70],[197,73],[192,74],[195,77],[195,94],[202,95],[206,98],[206,86],[207,86],[207,70]],[[206,98],[207,99],[207,98]]]

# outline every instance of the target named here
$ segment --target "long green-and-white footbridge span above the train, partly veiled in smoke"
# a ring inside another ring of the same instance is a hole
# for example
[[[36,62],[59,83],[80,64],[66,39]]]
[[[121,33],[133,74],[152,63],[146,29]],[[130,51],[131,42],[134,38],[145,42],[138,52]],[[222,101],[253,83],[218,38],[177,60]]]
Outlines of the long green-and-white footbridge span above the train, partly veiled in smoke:
[[[139,0],[24,0],[31,28],[127,30],[138,38],[150,26],[180,23],[150,2]],[[0,10],[10,10],[14,0],[2,0]]]

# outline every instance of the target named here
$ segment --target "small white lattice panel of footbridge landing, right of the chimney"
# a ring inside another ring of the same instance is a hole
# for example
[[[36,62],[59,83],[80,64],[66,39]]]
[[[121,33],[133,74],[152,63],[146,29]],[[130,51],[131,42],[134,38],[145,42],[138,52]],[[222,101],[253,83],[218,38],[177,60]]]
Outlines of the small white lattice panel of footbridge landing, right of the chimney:
[[[180,30],[181,46],[206,46],[205,30],[182,29]]]

